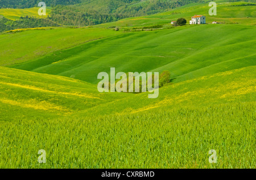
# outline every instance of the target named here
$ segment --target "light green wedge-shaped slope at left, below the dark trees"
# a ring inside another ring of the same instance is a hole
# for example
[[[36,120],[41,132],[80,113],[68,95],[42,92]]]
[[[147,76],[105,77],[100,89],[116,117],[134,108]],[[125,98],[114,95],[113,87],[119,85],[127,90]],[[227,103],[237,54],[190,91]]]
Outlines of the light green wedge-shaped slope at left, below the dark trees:
[[[0,35],[0,65],[35,60],[59,49],[119,33],[102,28],[39,28],[33,31],[2,34]]]

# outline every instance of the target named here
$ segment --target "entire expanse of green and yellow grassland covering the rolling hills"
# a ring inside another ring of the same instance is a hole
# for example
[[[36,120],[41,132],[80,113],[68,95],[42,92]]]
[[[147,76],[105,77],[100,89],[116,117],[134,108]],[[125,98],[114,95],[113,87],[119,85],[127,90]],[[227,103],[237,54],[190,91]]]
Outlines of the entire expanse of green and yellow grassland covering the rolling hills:
[[[2,32],[0,168],[256,168],[256,3],[215,2],[217,16],[191,3],[96,26]],[[195,14],[207,24],[170,24]],[[168,70],[171,82],[155,99],[99,93],[97,74],[112,67]]]

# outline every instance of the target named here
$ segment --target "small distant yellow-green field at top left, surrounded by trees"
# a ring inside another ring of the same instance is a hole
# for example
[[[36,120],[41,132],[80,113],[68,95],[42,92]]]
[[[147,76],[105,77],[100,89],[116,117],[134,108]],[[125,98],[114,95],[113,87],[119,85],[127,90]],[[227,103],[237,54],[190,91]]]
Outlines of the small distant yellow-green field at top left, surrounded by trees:
[[[46,18],[51,13],[51,9],[46,9],[46,16],[39,16],[40,7],[32,7],[29,9],[0,9],[0,15],[7,19],[18,20],[20,16],[36,16],[38,18]]]

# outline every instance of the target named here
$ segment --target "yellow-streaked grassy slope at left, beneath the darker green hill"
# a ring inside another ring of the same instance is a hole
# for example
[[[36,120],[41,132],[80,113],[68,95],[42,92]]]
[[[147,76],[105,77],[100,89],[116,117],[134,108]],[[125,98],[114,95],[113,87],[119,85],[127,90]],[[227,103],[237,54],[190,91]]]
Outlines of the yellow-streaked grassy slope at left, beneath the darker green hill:
[[[4,67],[0,67],[0,90],[0,120],[7,122],[57,118],[127,97],[100,94],[97,86],[77,79]]]

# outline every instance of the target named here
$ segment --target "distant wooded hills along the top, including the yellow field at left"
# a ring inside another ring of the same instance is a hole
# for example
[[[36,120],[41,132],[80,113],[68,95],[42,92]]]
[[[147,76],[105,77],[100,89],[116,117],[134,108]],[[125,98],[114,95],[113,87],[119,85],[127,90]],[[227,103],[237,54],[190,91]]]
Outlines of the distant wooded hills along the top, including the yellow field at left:
[[[245,0],[247,2],[255,2],[255,0]],[[21,3],[22,2],[22,3]],[[157,14],[159,12],[167,12],[174,10],[177,7],[183,7],[192,3],[194,6],[196,3],[202,5],[204,0],[77,0],[77,1],[57,1],[48,0],[46,6],[48,8],[47,16],[44,16],[47,20],[36,20],[35,23],[29,23],[29,21],[20,21],[20,16],[35,16],[38,18],[39,1],[0,1],[0,7],[2,8],[15,8],[15,9],[0,9],[0,15],[10,19],[8,22],[0,22],[0,32],[14,30],[15,28],[35,28],[35,27],[47,27],[47,26],[92,26],[96,24],[116,22],[124,18],[130,18],[134,16],[144,16]],[[216,1],[222,2],[234,2],[234,1]],[[245,5],[245,2],[243,2]],[[249,5],[247,3],[247,5]],[[240,6],[240,5],[236,5]],[[31,7],[31,8],[30,8]],[[22,8],[22,9],[16,9]],[[30,9],[23,9],[30,8]],[[207,7],[209,9],[209,7]],[[199,12],[199,11],[197,11]],[[167,17],[167,16],[166,16]],[[250,17],[250,16],[249,16]],[[162,20],[164,20],[163,18]],[[13,20],[18,20],[13,22]],[[43,22],[42,22],[43,21]],[[123,21],[122,21],[123,22]],[[10,26],[11,24],[11,26]],[[127,24],[127,23],[126,23]],[[128,23],[130,24],[130,23]]]

